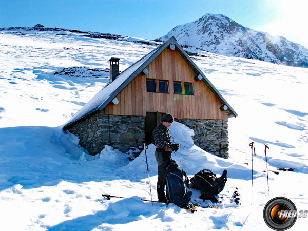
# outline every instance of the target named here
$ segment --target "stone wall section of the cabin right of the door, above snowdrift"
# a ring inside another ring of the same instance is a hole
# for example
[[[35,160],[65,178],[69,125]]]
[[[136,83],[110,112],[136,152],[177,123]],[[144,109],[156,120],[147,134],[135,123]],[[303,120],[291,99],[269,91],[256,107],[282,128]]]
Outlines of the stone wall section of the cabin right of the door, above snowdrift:
[[[195,131],[194,143],[203,150],[228,158],[228,120],[176,119]]]

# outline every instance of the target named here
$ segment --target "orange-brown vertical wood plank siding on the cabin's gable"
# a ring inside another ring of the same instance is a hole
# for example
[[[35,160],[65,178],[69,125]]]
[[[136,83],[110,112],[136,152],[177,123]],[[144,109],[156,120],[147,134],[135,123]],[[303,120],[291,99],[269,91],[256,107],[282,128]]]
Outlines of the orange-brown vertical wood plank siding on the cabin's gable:
[[[146,75],[139,74],[118,95],[119,103],[105,107],[106,114],[145,116],[148,112],[170,113],[181,119],[226,120],[226,111],[219,108],[221,102],[202,81],[196,81],[196,73],[177,50],[165,49],[147,67]],[[157,92],[146,91],[146,79],[156,79]],[[169,93],[158,93],[158,80],[168,80]],[[174,94],[173,82],[192,83],[194,95]]]

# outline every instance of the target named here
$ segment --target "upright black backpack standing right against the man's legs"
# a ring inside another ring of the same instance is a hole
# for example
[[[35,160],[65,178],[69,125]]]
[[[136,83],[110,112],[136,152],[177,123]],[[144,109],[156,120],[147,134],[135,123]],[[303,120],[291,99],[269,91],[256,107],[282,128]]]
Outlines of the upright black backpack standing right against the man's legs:
[[[181,208],[188,206],[192,191],[187,191],[189,179],[184,170],[180,170],[180,166],[175,160],[171,160],[166,167],[166,188],[167,198]]]

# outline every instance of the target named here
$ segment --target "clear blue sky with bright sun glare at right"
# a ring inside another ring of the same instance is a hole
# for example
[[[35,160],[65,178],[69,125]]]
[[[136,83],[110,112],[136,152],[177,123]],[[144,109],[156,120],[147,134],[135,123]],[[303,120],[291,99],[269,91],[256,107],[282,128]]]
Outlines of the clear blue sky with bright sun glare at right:
[[[0,27],[43,24],[153,39],[214,13],[308,47],[307,8],[301,0],[2,0]]]

